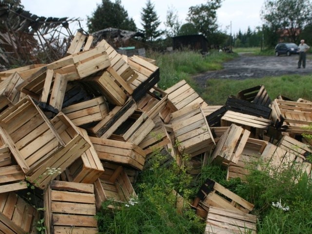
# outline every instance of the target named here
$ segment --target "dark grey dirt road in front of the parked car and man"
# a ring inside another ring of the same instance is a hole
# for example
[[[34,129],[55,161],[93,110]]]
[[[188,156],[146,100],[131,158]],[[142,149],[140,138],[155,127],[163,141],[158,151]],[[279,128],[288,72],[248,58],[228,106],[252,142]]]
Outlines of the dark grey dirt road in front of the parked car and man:
[[[239,57],[223,63],[224,69],[210,71],[196,75],[194,80],[199,85],[205,85],[209,78],[262,78],[281,76],[286,74],[312,74],[312,60],[307,59],[306,68],[297,69],[298,55],[292,56],[253,56],[251,54],[239,54]]]

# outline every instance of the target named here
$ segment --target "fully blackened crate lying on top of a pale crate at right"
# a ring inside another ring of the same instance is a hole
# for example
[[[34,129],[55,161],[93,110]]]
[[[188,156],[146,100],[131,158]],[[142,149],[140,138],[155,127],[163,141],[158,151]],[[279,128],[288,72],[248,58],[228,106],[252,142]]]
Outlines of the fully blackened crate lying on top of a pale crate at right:
[[[262,106],[260,104],[249,102],[247,100],[241,100],[234,96],[229,96],[225,108],[230,111],[248,114],[256,117],[270,118],[271,108],[268,106]]]

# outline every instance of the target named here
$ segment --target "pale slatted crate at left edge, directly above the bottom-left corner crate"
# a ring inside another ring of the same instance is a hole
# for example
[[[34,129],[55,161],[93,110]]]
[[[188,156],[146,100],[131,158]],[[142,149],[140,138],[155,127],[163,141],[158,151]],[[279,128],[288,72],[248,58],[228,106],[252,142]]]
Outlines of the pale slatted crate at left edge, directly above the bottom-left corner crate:
[[[26,188],[25,174],[19,165],[0,167],[0,193]]]

